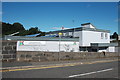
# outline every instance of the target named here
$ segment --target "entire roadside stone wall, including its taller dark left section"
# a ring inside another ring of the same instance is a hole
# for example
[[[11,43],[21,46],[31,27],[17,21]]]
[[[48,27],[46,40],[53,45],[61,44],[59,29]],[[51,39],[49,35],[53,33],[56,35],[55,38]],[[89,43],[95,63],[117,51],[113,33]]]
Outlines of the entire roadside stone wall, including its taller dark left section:
[[[2,41],[2,54],[0,60],[18,61],[57,61],[117,57],[118,53],[107,52],[40,52],[40,51],[16,51],[17,41]],[[120,54],[119,54],[120,56]]]

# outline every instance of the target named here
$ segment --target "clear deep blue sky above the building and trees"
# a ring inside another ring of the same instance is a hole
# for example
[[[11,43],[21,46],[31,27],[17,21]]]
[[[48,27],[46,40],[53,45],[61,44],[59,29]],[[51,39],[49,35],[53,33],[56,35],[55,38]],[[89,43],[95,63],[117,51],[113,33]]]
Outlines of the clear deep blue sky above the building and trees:
[[[61,27],[81,27],[92,23],[98,29],[118,32],[117,2],[3,2],[2,21],[21,23],[25,29],[38,27],[41,31]]]

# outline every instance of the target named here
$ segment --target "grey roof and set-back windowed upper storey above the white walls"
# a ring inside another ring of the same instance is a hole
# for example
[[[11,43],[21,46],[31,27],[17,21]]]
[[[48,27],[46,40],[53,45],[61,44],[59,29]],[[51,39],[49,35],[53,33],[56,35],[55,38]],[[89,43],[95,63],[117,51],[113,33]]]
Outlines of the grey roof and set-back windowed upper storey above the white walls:
[[[50,32],[46,33],[46,36],[50,36],[50,35],[58,36],[58,34],[61,32],[63,37],[79,38],[81,31],[95,31],[95,32],[110,33],[109,30],[97,29],[93,24],[85,23],[85,24],[81,24],[81,27],[77,27],[77,28],[62,29],[62,30],[58,30],[58,31],[50,31]]]

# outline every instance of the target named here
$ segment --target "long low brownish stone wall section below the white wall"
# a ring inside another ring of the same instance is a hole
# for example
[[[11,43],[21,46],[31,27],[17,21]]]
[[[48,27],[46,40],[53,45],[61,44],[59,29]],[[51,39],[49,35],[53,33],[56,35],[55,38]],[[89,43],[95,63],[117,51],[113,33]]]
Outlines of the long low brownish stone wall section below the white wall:
[[[105,53],[104,55],[102,52],[17,52],[18,61],[57,61],[59,58],[60,60],[76,60],[117,56],[118,53]]]

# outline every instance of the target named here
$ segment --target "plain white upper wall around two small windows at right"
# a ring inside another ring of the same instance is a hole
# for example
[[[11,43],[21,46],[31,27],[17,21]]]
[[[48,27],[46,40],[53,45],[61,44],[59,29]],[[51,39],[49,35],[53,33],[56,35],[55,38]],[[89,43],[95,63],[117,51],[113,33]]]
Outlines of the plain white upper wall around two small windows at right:
[[[101,39],[101,33],[104,33],[103,39]],[[110,33],[107,33],[107,36],[106,39],[105,32],[81,31],[80,46],[90,46],[90,43],[110,43]]]

